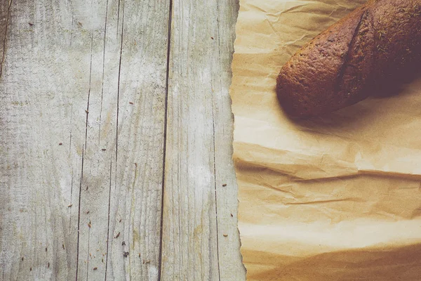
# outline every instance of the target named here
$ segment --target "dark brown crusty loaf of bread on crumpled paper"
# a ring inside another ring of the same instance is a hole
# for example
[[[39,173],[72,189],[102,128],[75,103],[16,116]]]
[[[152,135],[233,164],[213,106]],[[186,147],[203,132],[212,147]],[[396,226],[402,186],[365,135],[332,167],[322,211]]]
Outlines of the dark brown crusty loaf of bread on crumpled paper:
[[[369,0],[283,65],[276,93],[292,117],[332,112],[421,70],[421,0]]]

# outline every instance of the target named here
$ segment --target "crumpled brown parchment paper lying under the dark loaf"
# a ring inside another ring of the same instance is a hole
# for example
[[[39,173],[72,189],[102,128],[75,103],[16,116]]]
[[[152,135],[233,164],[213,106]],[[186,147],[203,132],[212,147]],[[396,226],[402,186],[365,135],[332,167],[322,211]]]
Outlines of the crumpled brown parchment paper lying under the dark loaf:
[[[248,280],[421,280],[421,79],[291,122],[276,74],[363,1],[240,0],[231,87]]]

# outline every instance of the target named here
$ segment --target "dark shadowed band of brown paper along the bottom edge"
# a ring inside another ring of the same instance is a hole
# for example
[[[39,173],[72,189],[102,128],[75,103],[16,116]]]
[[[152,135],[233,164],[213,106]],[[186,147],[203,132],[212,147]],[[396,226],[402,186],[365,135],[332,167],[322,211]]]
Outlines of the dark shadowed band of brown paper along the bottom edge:
[[[247,250],[243,250],[247,251]],[[394,247],[392,244],[366,249],[331,251],[299,259],[295,256],[250,251],[247,255],[265,261],[267,270],[259,270],[250,280],[302,281],[395,281],[420,280],[421,244]],[[254,261],[245,261],[250,268]]]

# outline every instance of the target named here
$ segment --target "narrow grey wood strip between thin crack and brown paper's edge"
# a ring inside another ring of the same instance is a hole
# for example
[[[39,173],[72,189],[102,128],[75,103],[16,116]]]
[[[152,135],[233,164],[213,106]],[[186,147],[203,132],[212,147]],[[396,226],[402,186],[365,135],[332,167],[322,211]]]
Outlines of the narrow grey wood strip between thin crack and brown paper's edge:
[[[246,280],[237,228],[238,186],[232,161],[233,115],[229,86],[238,1],[217,2],[218,48],[213,49],[213,119],[215,123],[215,182],[218,217],[220,280]],[[216,38],[216,37],[215,37]]]

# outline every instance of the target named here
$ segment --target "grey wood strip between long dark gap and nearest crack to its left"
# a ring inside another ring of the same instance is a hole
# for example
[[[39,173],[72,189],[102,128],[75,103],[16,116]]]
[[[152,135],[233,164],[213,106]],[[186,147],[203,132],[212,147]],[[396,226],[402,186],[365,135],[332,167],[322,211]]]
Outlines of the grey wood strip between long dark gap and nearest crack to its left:
[[[114,234],[121,235],[112,261],[126,275],[116,280],[159,277],[169,7],[168,0],[124,4],[113,210]],[[129,254],[122,265],[123,251]]]

